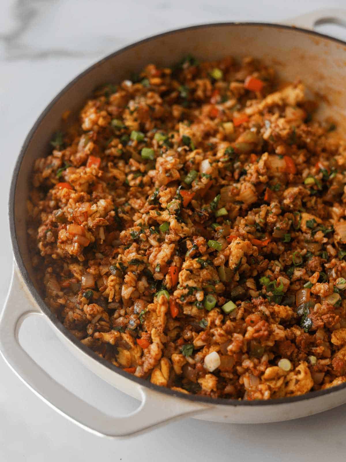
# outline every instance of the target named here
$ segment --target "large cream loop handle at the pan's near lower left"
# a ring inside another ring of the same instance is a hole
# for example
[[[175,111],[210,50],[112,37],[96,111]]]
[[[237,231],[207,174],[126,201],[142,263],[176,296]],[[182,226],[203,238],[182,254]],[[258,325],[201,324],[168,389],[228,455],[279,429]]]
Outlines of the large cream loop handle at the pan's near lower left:
[[[137,385],[142,402],[136,411],[124,417],[102,413],[56,382],[24,351],[18,334],[24,319],[31,315],[43,314],[27,292],[15,267],[0,317],[0,352],[12,371],[37,396],[89,432],[107,437],[125,437],[211,408]]]

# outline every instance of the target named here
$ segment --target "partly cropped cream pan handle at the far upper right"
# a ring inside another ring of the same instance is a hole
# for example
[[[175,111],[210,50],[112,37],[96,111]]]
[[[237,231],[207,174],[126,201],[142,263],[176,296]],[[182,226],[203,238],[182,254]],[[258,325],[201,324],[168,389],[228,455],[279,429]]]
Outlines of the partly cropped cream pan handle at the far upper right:
[[[346,27],[346,10],[343,8],[322,8],[287,19],[281,24],[313,30],[317,24],[324,23],[334,23]]]

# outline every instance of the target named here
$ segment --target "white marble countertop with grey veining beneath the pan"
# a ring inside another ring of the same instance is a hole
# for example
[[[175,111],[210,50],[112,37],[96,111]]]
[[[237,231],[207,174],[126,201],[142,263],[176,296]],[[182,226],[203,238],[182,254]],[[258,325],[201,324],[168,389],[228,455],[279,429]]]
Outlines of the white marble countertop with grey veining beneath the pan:
[[[46,104],[100,57],[164,30],[227,20],[279,22],[344,0],[1,0],[0,14],[0,306],[12,250],[6,223],[13,165]],[[346,30],[322,26],[346,39]],[[67,353],[44,319],[28,320],[21,340],[61,383],[102,410],[125,414],[132,398],[95,377]],[[344,461],[346,406],[286,423],[221,425],[185,419],[133,439],[101,439],[37,398],[0,359],[0,461],[180,460]]]

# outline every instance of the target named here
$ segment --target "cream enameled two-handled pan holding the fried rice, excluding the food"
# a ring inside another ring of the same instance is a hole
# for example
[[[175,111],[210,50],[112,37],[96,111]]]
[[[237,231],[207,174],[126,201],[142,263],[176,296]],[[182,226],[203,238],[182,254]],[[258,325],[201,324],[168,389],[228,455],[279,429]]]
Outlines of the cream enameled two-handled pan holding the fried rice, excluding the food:
[[[26,242],[26,198],[34,161],[48,153],[49,140],[61,114],[77,111],[95,87],[128,78],[146,64],[171,65],[191,53],[203,60],[226,55],[255,56],[272,64],[282,79],[300,78],[321,98],[321,115],[345,120],[346,43],[312,30],[327,19],[346,24],[346,11],[323,10],[295,18],[289,24],[222,23],[174,30],[150,37],[107,56],[69,83],[42,112],[28,134],[15,166],[9,201],[14,255],[11,286],[0,319],[0,350],[12,370],[50,406],[79,426],[108,437],[127,436],[154,426],[193,416],[228,423],[261,423],[295,419],[346,402],[346,383],[303,396],[271,401],[236,401],[183,395],[151,384],[100,359],[82,345],[52,315],[33,283]],[[309,29],[309,30],[307,30]],[[26,316],[41,315],[75,356],[117,389],[141,400],[125,417],[109,417],[54,381],[18,341]]]

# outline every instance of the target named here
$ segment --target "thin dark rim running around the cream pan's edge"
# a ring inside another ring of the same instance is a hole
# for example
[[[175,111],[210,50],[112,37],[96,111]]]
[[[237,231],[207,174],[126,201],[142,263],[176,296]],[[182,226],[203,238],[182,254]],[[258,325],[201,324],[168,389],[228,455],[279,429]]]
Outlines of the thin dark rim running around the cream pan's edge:
[[[138,385],[142,385],[143,387],[158,391],[160,393],[164,393],[168,396],[175,396],[177,398],[181,398],[187,401],[193,401],[196,403],[206,403],[206,404],[211,404],[211,405],[222,405],[222,406],[231,406],[231,407],[239,407],[239,406],[252,406],[252,407],[261,407],[261,406],[275,406],[278,404],[290,404],[293,402],[298,402],[298,401],[306,401],[314,398],[318,398],[324,395],[329,395],[330,393],[334,393],[337,391],[341,391],[342,389],[346,389],[346,383],[342,383],[340,385],[336,385],[334,387],[330,387],[328,389],[324,390],[318,390],[318,391],[313,391],[309,392],[305,395],[299,395],[299,396],[292,396],[292,397],[286,397],[286,398],[274,398],[270,400],[256,400],[256,401],[245,401],[245,400],[236,400],[236,399],[225,399],[225,398],[211,398],[208,396],[200,396],[200,395],[185,395],[184,393],[179,393],[176,392],[170,388],[166,387],[160,387],[159,385],[155,385],[151,382],[149,382],[147,379],[141,378],[141,377],[135,377],[133,375],[128,374],[127,372],[123,371],[119,367],[111,364],[109,361],[107,361],[104,358],[100,358],[98,355],[96,355],[95,352],[93,352],[90,348],[87,346],[84,346],[74,335],[72,335],[67,328],[53,315],[53,313],[49,310],[48,306],[44,303],[41,295],[39,292],[36,290],[33,282],[30,279],[29,273],[24,265],[24,261],[22,258],[22,255],[19,250],[19,245],[18,245],[18,239],[17,239],[17,231],[16,231],[16,224],[15,224],[15,212],[14,212],[14,207],[15,207],[15,195],[16,195],[16,187],[17,187],[17,181],[18,181],[18,175],[20,171],[20,167],[22,165],[22,161],[24,159],[26,150],[30,144],[30,141],[35,134],[37,128],[47,116],[49,111],[52,109],[54,104],[62,97],[66,91],[68,91],[73,85],[75,85],[79,79],[87,75],[90,71],[95,69],[96,67],[100,67],[104,62],[107,60],[113,58],[114,56],[120,55],[124,51],[134,48],[137,45],[140,45],[142,43],[146,43],[152,40],[155,40],[160,37],[168,36],[171,34],[176,34],[179,32],[187,31],[187,30],[195,30],[195,29],[202,29],[202,28],[209,28],[209,27],[229,27],[229,26],[263,26],[263,27],[272,27],[272,28],[277,28],[277,29],[286,29],[286,30],[294,30],[299,33],[307,34],[310,36],[315,36],[319,38],[324,38],[328,39],[334,43],[339,43],[343,46],[346,47],[346,42],[343,40],[340,40],[338,38],[334,38],[331,36],[328,36],[326,34],[321,34],[319,32],[316,32],[315,30],[306,30],[300,27],[295,27],[295,26],[290,26],[290,25],[285,25],[285,24],[274,24],[274,23],[260,23],[260,22],[217,22],[217,23],[207,23],[207,24],[197,24],[193,26],[187,26],[183,28],[178,28],[178,29],[173,29],[169,30],[167,32],[162,32],[160,34],[156,34],[154,36],[149,36],[146,37],[142,40],[139,40],[135,43],[131,43],[130,45],[127,45],[125,47],[120,48],[119,50],[106,55],[105,57],[101,58],[101,60],[96,61],[94,64],[91,66],[87,67],[84,71],[79,73],[74,79],[72,79],[67,85],[65,85],[62,90],[59,91],[59,93],[51,100],[50,103],[43,109],[41,112],[40,116],[36,119],[36,122],[30,129],[29,133],[27,134],[24,143],[20,149],[13,173],[12,173],[12,180],[11,180],[11,186],[10,186],[10,193],[9,193],[9,201],[8,201],[8,219],[9,219],[9,228],[10,228],[10,236],[11,236],[11,243],[12,243],[12,251],[13,251],[13,256],[15,263],[17,265],[19,274],[21,275],[25,286],[29,290],[31,296],[34,298],[36,304],[39,306],[40,310],[45,316],[48,316],[49,320],[54,324],[54,326],[59,329],[60,333],[63,334],[67,340],[69,340],[74,346],[76,346],[79,350],[81,350],[82,353],[86,354],[90,358],[94,359],[95,361],[99,362],[101,365],[107,367],[111,371],[115,372],[116,374],[119,374],[122,377],[127,378],[128,380],[131,380],[132,382],[137,383]],[[116,388],[116,387],[115,387]]]

